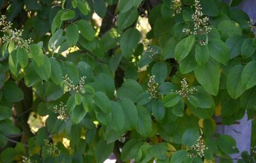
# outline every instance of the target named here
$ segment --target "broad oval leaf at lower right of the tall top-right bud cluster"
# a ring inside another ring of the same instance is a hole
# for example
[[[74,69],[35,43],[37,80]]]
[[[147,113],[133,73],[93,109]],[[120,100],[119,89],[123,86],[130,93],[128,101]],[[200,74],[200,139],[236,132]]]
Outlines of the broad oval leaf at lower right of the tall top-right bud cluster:
[[[222,63],[223,65],[227,65],[229,60],[229,53],[228,47],[224,42],[217,39],[211,39],[208,47],[211,58]]]

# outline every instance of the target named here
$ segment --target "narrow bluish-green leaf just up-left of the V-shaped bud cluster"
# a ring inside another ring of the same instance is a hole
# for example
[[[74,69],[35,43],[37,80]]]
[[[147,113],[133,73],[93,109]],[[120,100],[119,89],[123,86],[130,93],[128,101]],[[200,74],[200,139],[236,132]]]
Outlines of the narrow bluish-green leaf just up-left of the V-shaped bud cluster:
[[[62,74],[60,63],[56,61],[55,58],[50,58],[50,62],[51,62],[51,79],[56,85],[59,85],[63,81],[62,79],[63,74]]]

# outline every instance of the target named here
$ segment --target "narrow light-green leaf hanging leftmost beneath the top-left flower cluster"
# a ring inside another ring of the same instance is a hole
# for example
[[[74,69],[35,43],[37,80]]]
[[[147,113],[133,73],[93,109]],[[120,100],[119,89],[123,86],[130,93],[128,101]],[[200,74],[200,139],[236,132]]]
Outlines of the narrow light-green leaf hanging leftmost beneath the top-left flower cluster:
[[[9,56],[9,68],[15,77],[19,74],[20,66],[19,59],[17,58],[17,50],[13,50]]]

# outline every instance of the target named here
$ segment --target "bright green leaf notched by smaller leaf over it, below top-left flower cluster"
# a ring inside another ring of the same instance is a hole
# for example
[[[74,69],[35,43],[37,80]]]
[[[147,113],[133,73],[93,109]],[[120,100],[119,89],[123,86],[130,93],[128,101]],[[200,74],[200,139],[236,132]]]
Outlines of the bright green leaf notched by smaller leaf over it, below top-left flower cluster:
[[[51,62],[47,56],[44,56],[44,64],[37,65],[35,62],[32,62],[33,67],[35,68],[36,74],[38,74],[42,79],[48,81],[51,77]]]

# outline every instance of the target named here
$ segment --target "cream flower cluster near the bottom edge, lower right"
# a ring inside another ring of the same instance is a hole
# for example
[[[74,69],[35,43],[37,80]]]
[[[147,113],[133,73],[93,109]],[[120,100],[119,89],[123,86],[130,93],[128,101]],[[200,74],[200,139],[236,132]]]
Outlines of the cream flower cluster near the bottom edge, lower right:
[[[204,151],[207,150],[208,148],[205,146],[204,144],[204,139],[202,136],[199,136],[196,144],[194,144],[193,146],[190,146],[188,148],[188,156],[190,158],[193,157],[204,157]]]

